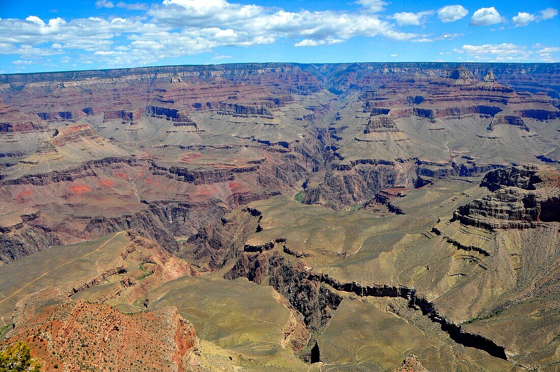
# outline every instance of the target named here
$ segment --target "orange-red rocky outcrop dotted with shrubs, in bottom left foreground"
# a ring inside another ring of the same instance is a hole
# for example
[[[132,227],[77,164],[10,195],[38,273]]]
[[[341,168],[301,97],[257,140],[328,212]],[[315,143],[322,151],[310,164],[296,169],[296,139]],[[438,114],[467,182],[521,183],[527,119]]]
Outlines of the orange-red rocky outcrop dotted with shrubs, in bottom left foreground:
[[[28,342],[49,371],[132,372],[151,366],[185,372],[200,350],[194,327],[174,307],[129,315],[64,299],[52,288],[18,302],[13,327],[2,344]]]

